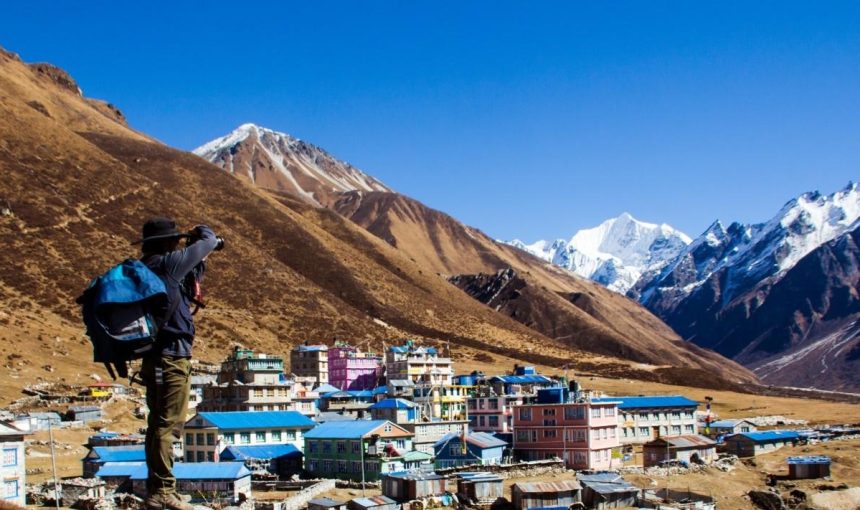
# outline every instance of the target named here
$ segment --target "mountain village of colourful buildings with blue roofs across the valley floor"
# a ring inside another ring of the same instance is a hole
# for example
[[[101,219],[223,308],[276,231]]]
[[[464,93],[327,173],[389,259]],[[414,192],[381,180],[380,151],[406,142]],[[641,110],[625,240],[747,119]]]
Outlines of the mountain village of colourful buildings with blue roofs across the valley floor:
[[[860,435],[857,427],[813,429],[783,417],[723,420],[710,398],[605,395],[519,364],[504,374],[458,374],[444,348],[411,340],[382,354],[340,341],[298,345],[288,361],[237,346],[220,367],[197,365],[174,446],[179,489],[193,502],[278,510],[716,508],[705,487],[661,491],[625,477],[731,471],[783,447]],[[5,412],[7,500],[135,507],[147,477],[143,430],[109,430],[103,409],[119,399],[142,413],[137,388],[98,382],[78,398],[55,399],[45,386],[28,393],[23,401],[55,410]],[[82,476],[28,484],[30,436],[48,430],[54,455],[54,434],[69,429],[92,431]],[[781,478],[828,479],[830,465],[827,456],[793,455]],[[750,498],[781,501],[776,491]]]

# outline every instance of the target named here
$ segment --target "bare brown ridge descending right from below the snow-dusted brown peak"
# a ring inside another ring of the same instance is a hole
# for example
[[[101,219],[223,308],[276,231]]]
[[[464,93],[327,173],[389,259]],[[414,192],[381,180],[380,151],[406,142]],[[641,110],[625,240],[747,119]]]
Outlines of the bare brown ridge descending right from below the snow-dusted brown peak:
[[[459,274],[452,280],[463,290],[471,287],[467,292],[473,297],[566,345],[636,362],[701,370],[700,377],[718,373],[730,380],[755,379],[737,363],[684,342],[636,302],[497,243],[409,197],[349,192],[333,207],[422,265],[441,274]],[[481,299],[479,289],[504,287],[499,282],[494,286],[492,280],[506,271],[512,271],[516,280],[515,299]]]

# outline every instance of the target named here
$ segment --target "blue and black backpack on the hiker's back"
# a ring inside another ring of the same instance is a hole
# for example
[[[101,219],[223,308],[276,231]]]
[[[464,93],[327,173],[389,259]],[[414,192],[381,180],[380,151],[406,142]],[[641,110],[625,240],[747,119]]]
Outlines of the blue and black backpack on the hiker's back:
[[[176,300],[174,300],[176,301]],[[153,349],[164,321],[176,309],[164,282],[139,260],[127,259],[90,282],[77,298],[93,361],[115,380],[128,377],[128,362]],[[159,310],[168,309],[161,316]]]

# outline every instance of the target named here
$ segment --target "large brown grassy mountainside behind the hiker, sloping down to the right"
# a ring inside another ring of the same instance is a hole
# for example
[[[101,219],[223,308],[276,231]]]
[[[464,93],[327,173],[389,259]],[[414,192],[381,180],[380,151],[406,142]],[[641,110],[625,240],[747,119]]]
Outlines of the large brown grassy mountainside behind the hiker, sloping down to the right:
[[[210,259],[195,347],[202,359],[236,342],[284,353],[334,336],[376,346],[413,336],[450,341],[461,360],[492,352],[669,380],[546,338],[334,212],[261,192],[105,111],[0,55],[0,373],[13,387],[97,371],[73,300],[89,278],[135,255],[129,241],[156,214],[208,223],[228,240]]]

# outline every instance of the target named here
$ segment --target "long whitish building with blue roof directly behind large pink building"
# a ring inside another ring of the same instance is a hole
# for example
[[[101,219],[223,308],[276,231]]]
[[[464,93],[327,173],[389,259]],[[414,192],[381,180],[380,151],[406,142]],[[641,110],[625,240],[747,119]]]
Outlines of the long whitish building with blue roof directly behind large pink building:
[[[642,444],[658,437],[695,434],[699,403],[682,395],[592,398],[592,402],[618,403],[621,444]]]

